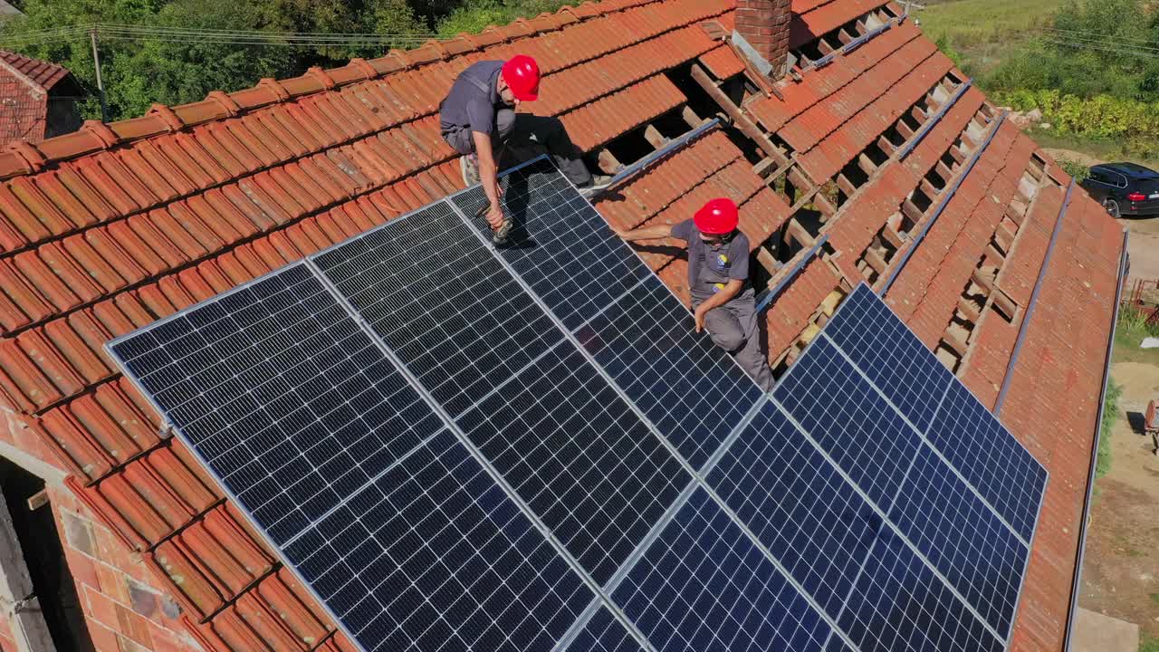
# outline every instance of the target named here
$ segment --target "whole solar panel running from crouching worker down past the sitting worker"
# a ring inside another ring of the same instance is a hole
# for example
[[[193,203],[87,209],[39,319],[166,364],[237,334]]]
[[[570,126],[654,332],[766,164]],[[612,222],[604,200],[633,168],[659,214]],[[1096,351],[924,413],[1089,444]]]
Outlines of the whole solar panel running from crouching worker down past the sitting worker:
[[[506,173],[515,220],[497,253],[575,333],[693,469],[701,468],[761,391],[547,159]],[[454,197],[467,216],[481,189]],[[482,233],[482,217],[473,223]]]

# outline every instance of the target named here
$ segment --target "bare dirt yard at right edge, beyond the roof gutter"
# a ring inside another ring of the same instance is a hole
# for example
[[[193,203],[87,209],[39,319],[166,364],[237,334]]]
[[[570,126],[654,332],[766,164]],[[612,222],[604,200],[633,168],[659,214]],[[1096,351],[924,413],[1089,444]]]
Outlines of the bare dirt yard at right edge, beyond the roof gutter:
[[[1110,375],[1123,386],[1121,418],[1110,472],[1095,481],[1079,604],[1159,637],[1159,457],[1132,427],[1159,397],[1159,367],[1117,362]]]

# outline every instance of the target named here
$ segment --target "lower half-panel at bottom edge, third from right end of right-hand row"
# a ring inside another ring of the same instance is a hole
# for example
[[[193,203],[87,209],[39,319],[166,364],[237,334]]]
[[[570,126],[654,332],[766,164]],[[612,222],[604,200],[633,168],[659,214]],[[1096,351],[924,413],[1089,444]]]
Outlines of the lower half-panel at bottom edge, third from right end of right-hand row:
[[[1005,649],[892,530],[874,545],[838,624],[861,652]]]

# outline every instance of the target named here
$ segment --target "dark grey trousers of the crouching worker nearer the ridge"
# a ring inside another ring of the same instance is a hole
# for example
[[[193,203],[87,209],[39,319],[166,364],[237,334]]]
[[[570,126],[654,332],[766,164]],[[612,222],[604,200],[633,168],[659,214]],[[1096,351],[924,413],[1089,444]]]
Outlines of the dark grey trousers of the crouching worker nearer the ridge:
[[[491,151],[502,159],[495,161],[500,169],[547,153],[576,187],[591,186],[591,173],[583,162],[583,153],[571,143],[560,118],[500,109],[495,123],[498,129],[491,135]],[[475,153],[475,139],[471,129],[445,132],[443,139],[460,154]]]

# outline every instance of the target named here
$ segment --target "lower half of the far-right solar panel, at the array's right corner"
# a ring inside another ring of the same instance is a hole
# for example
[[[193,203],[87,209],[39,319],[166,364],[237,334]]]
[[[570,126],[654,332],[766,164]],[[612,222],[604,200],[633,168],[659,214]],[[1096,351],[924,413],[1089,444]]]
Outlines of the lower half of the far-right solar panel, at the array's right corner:
[[[964,385],[950,385],[926,437],[1029,542],[1047,470]]]

